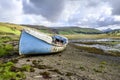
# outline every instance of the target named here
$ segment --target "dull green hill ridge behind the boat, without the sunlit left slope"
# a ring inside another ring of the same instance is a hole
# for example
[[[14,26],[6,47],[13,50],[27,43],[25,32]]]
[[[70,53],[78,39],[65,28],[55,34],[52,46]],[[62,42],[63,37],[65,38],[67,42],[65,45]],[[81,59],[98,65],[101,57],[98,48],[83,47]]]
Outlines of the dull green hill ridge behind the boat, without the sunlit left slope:
[[[39,25],[22,25],[31,28],[36,28],[45,33],[56,34],[100,34],[101,31],[93,28],[80,28],[80,27],[45,27]]]

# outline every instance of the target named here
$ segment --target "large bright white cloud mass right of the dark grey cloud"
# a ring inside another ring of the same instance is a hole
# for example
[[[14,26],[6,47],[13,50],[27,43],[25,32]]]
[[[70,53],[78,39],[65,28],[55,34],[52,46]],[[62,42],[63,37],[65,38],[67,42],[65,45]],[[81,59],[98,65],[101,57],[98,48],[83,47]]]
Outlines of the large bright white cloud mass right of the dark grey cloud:
[[[112,4],[108,0],[69,0],[62,19],[68,24],[93,28],[120,24],[119,15],[113,15],[113,8],[117,8]]]

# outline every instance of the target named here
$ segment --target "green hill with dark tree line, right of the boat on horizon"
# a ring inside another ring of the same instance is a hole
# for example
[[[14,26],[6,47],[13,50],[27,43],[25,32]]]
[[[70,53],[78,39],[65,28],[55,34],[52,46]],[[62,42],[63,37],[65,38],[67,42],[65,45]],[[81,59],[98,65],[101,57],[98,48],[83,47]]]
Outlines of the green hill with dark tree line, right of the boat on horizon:
[[[93,28],[80,27],[52,27],[58,34],[100,34],[101,31]]]

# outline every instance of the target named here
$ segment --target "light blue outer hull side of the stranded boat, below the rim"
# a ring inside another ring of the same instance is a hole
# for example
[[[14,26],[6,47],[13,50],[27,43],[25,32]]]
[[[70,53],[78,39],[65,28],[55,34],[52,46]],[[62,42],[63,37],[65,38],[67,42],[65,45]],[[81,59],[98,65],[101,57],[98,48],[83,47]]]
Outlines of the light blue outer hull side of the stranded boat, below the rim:
[[[48,42],[41,40],[34,35],[22,31],[19,41],[19,54],[50,54],[60,52],[65,49],[64,47],[54,46]]]

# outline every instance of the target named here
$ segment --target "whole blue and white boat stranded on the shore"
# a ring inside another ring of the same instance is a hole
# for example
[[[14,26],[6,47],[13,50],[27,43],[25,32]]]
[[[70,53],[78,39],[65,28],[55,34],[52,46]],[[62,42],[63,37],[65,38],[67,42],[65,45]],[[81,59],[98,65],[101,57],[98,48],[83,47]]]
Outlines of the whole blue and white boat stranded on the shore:
[[[23,29],[19,40],[19,54],[52,54],[65,50],[68,39],[60,35],[49,36],[33,29]]]

